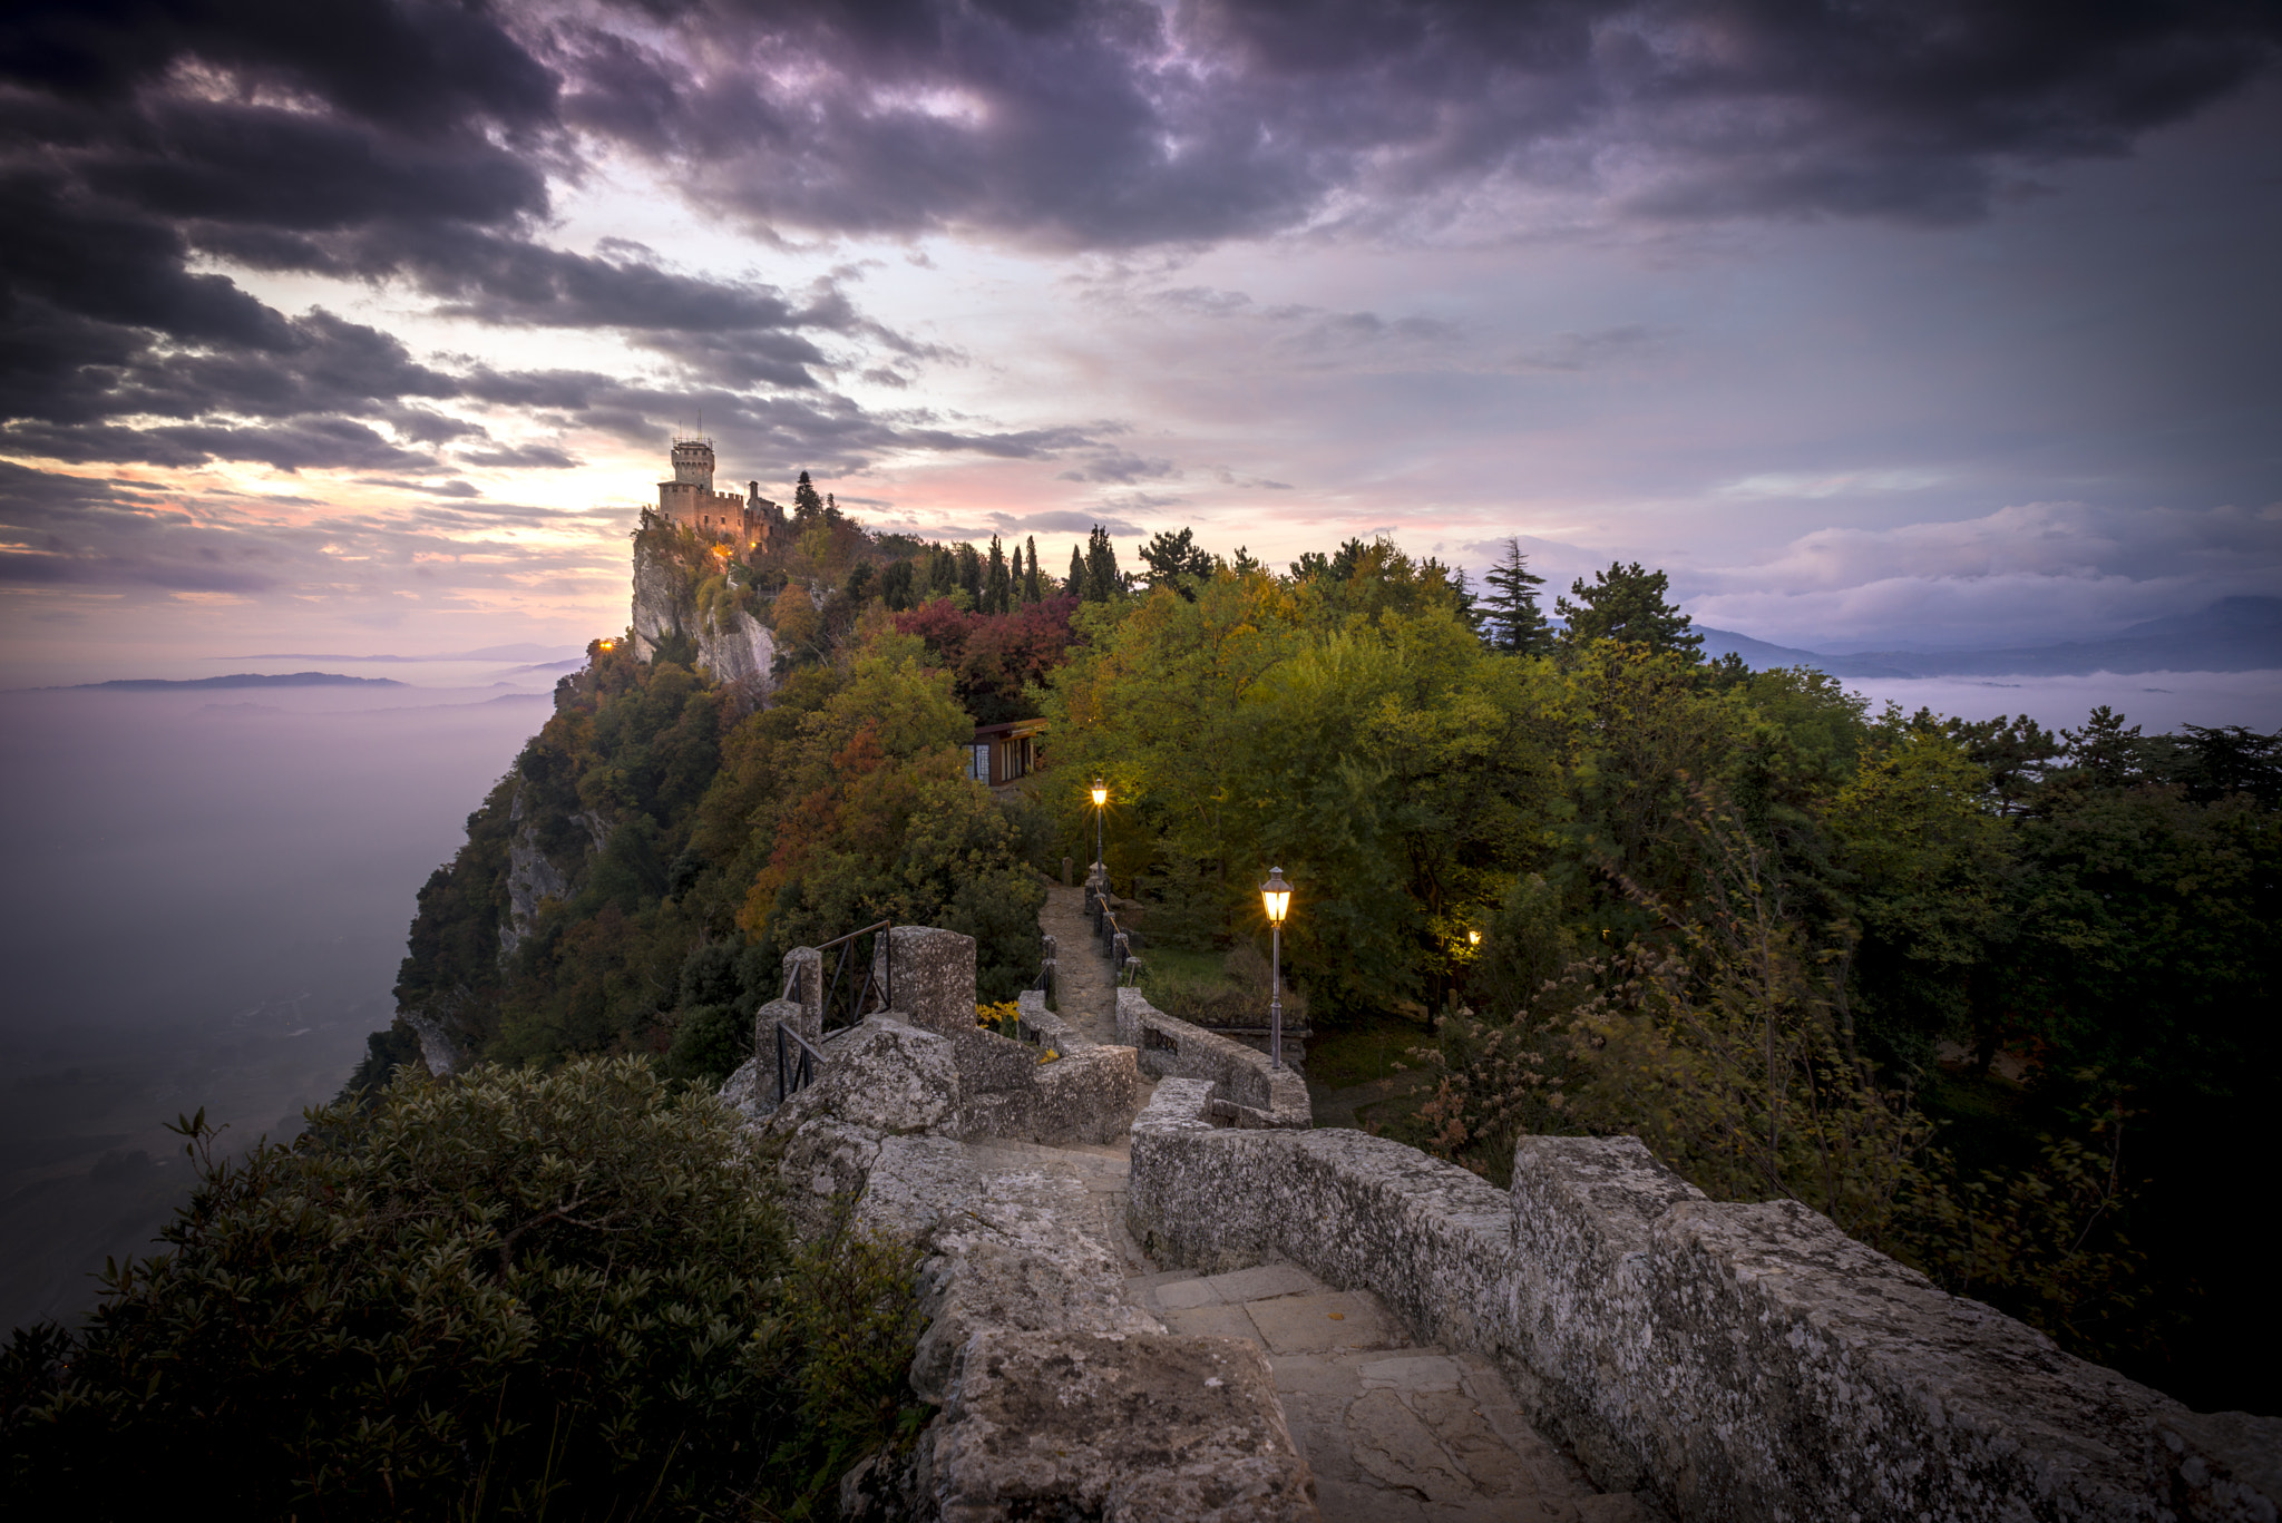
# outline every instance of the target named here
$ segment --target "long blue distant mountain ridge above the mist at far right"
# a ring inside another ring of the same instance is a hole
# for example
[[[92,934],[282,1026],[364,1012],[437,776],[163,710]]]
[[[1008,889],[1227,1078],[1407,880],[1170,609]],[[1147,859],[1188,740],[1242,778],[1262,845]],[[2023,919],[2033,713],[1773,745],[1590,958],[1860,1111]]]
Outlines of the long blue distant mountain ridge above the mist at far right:
[[[1858,651],[1823,655],[1734,630],[1696,626],[1705,655],[1734,651],[1748,664],[1814,667],[1830,676],[2086,676],[2093,671],[2282,669],[2282,598],[2220,598],[2200,614],[2147,619],[2106,639],[1997,651]]]

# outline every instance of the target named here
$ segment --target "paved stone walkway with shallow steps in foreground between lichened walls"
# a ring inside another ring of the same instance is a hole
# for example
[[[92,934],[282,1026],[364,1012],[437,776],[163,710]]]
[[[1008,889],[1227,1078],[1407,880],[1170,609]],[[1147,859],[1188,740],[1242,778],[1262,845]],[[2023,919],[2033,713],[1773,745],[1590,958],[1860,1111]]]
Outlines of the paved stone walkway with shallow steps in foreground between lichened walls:
[[[1324,1523],[1654,1521],[1629,1493],[1593,1491],[1575,1461],[1529,1427],[1495,1365],[1413,1345],[1369,1290],[1333,1290],[1289,1263],[1232,1274],[1159,1270],[1125,1228],[1125,1146],[988,1142],[968,1144],[968,1155],[984,1171],[1077,1178],[1132,1272],[1120,1286],[1130,1306],[1175,1333],[1260,1345],[1292,1439],[1314,1470]]]

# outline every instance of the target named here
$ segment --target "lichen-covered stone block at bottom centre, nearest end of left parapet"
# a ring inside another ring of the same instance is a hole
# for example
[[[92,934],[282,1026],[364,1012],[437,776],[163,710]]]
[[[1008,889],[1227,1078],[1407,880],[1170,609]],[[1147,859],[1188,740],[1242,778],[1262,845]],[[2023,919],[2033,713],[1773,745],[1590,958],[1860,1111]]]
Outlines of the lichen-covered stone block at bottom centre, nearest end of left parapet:
[[[1314,1484],[1260,1347],[990,1329],[929,1434],[945,1523],[1312,1523]]]

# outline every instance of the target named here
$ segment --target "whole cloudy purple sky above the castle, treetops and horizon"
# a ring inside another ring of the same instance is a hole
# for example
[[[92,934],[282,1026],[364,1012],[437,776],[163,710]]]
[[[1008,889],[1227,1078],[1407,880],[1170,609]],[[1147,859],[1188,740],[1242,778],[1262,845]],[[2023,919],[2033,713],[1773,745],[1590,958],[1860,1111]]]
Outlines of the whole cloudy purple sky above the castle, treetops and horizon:
[[[1518,534],[1826,646],[2275,594],[2277,50],[2264,0],[18,2],[0,664],[584,642],[701,418],[1054,566]]]

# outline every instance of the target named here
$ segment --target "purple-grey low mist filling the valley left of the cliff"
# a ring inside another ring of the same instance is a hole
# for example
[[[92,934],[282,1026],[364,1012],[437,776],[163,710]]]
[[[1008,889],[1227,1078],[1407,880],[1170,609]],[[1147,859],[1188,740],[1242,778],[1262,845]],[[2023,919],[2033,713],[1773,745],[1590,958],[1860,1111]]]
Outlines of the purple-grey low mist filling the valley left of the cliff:
[[[386,1025],[413,895],[545,694],[0,694],[0,1327],[71,1320]]]

